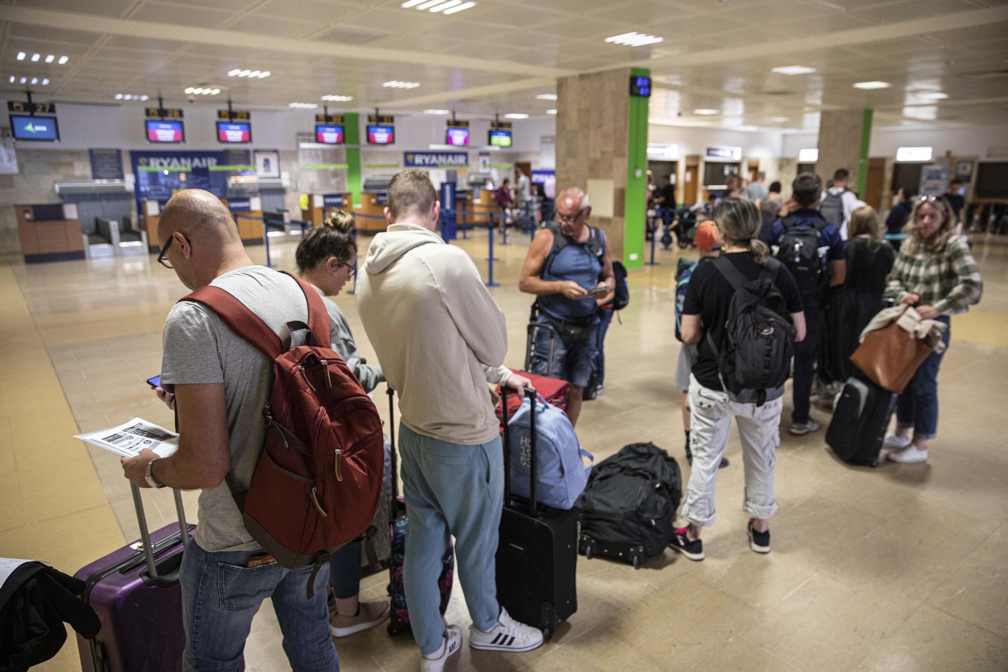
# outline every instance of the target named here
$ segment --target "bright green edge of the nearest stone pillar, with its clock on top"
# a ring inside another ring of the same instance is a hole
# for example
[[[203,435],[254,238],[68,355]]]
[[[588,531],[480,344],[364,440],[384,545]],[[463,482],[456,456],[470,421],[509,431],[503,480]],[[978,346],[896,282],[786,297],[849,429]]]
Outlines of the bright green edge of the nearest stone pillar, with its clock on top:
[[[646,68],[631,68],[632,77],[650,77]],[[629,96],[629,92],[627,93]],[[630,98],[627,134],[627,191],[623,217],[623,263],[627,268],[644,264],[644,218],[647,215],[647,102]]]

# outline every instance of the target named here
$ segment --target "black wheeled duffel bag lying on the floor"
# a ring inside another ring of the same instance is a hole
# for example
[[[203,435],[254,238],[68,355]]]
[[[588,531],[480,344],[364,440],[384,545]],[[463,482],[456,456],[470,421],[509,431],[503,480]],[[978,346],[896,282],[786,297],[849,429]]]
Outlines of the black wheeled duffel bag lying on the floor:
[[[581,515],[579,550],[639,567],[672,540],[682,496],[679,465],[653,443],[632,443],[592,469],[575,508]]]

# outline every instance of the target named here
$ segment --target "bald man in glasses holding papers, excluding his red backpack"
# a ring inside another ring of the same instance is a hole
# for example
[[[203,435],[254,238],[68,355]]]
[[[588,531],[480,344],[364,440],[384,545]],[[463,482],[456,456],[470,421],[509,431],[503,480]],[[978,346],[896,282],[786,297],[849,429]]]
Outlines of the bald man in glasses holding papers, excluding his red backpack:
[[[278,335],[307,322],[297,283],[245,252],[231,213],[201,190],[176,194],[157,227],[158,257],[190,290],[213,285],[258,315]],[[335,334],[334,334],[335,337]],[[301,345],[305,332],[291,333]],[[311,567],[288,570],[266,555],[242,523],[232,497],[249,487],[262,451],[273,362],[233,333],[209,308],[181,302],[164,325],[159,396],[177,408],[178,450],[166,458],[144,450],[123,458],[126,477],[141,487],[202,488],[200,524],[185,547],[179,581],[185,670],[238,670],[252,617],[267,597],[283,632],[294,672],[339,670],[326,592],[305,599]],[[172,394],[173,393],[173,394]],[[319,584],[329,566],[319,570]]]

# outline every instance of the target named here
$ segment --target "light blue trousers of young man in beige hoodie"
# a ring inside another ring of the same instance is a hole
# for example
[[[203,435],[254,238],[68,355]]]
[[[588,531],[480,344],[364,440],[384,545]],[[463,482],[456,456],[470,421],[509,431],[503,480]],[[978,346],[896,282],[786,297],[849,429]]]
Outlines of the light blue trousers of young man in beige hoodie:
[[[473,625],[486,632],[500,615],[495,558],[504,506],[504,450],[500,437],[466,446],[431,439],[403,424],[399,442],[409,517],[402,581],[413,639],[428,655],[440,648],[445,634],[437,578],[452,535]]]

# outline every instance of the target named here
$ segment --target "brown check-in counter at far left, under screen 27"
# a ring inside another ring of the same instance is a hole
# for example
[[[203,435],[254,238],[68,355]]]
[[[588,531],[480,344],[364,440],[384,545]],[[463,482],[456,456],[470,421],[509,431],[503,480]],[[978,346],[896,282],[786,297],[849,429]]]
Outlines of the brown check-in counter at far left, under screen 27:
[[[84,258],[84,235],[76,203],[15,205],[25,263]]]

